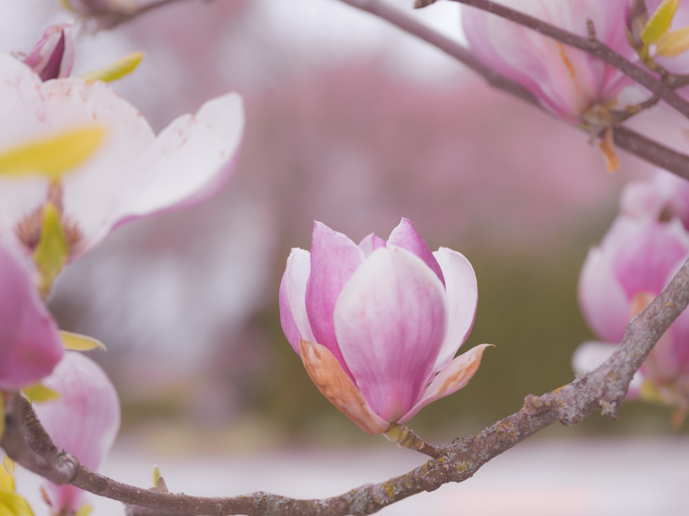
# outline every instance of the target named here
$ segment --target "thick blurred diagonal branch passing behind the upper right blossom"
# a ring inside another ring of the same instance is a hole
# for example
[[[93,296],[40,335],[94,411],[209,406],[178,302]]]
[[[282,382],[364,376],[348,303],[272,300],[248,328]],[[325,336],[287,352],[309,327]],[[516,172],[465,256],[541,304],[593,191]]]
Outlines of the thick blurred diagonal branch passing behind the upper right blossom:
[[[460,45],[460,43],[438,34],[438,32],[435,32],[433,29],[429,28],[423,23],[416,21],[413,19],[413,17],[410,17],[402,10],[394,8],[393,6],[390,6],[389,4],[380,0],[341,1],[343,3],[347,3],[353,8],[374,14],[377,17],[380,17],[381,19],[391,23],[392,25],[395,25],[395,27],[399,28],[400,30],[426,41],[426,43],[429,43],[435,48],[442,50],[442,52],[445,52],[460,63],[469,67],[471,70],[486,79],[491,86],[511,94],[517,97],[517,99],[520,99],[526,103],[535,105],[543,110],[543,107],[539,105],[538,101],[535,99],[535,96],[526,90],[526,88],[524,88],[520,83],[512,81],[506,76],[498,74],[495,72],[495,70],[478,61],[475,56],[473,56],[469,50]],[[657,80],[653,80],[660,84]],[[552,115],[552,113],[547,110],[544,110],[544,112]],[[597,137],[602,139],[602,132],[601,134],[597,135]],[[660,143],[646,138],[646,136],[642,136],[633,130],[627,129],[626,127],[621,127],[619,125],[615,126],[615,145],[621,149],[625,149],[627,152],[630,152],[630,154],[634,154],[635,156],[648,161],[649,163],[658,165],[659,167],[668,170],[668,172],[672,172],[689,180],[689,156],[686,154],[676,152],[669,147],[665,147]]]

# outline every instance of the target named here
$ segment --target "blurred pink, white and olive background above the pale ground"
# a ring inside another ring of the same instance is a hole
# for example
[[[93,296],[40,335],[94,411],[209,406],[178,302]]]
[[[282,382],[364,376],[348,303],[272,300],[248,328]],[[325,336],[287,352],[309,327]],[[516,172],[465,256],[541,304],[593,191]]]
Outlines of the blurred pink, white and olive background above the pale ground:
[[[456,4],[390,3],[461,40]],[[70,17],[57,0],[0,6],[3,51],[27,52]],[[313,220],[358,241],[406,216],[431,249],[473,263],[480,302],[463,349],[496,348],[469,386],[414,418],[431,442],[572,380],[570,357],[593,337],[579,269],[648,165],[620,152],[608,174],[583,132],[335,0],[179,1],[83,30],[74,73],[134,50],[145,61],[114,87],[154,130],[228,90],[244,96],[247,126],[225,191],[118,229],[57,285],[61,327],[107,345],[93,358],[121,395],[123,442],[152,455],[389,446],[322,398],[282,335],[280,277],[289,249],[310,247]],[[639,125],[661,137],[668,116]],[[535,440],[575,435],[678,437],[669,409],[630,403],[618,421],[594,415]]]

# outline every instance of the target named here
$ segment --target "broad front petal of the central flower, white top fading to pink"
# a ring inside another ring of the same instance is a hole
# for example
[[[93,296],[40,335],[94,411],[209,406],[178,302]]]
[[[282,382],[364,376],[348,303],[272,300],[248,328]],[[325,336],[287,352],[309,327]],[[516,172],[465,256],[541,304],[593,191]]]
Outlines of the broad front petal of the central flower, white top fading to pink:
[[[373,411],[395,422],[420,398],[445,335],[438,276],[409,251],[378,249],[342,288],[334,319],[356,385]]]

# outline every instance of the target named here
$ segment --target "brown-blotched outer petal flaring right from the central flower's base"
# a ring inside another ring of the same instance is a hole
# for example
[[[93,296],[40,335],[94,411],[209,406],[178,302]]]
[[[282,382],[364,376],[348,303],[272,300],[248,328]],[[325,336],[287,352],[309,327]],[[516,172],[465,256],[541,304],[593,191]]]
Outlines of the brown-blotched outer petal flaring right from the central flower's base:
[[[404,424],[411,420],[412,417],[418,413],[424,406],[433,403],[435,400],[440,400],[444,396],[455,393],[460,389],[463,389],[469,380],[473,378],[473,375],[478,371],[481,365],[481,358],[483,357],[483,352],[487,347],[493,344],[480,344],[479,346],[471,348],[466,353],[462,353],[452,362],[446,369],[443,369],[435,375],[435,378],[431,381],[429,386],[426,388],[426,392],[422,398],[411,408],[409,412],[400,417],[398,422]]]

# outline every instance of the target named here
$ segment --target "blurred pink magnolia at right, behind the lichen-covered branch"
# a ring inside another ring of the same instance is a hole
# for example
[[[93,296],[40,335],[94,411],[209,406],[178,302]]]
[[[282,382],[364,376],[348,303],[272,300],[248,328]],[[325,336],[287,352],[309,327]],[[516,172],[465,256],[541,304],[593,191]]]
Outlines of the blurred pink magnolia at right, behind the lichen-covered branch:
[[[600,247],[589,252],[579,279],[584,317],[604,343],[586,343],[575,355],[575,368],[590,369],[597,354],[609,353],[630,318],[648,306],[687,258],[689,234],[679,219],[617,218]],[[642,397],[652,392],[668,404],[689,407],[689,312],[672,323],[639,375]]]

